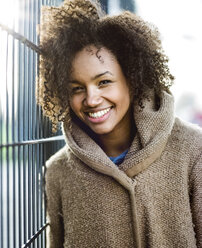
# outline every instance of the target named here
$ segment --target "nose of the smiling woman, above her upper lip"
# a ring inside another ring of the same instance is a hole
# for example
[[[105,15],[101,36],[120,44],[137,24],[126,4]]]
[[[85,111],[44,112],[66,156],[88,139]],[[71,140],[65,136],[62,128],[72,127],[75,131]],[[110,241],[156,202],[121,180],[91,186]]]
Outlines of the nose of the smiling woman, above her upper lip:
[[[96,107],[102,102],[99,89],[88,90],[84,99],[84,105],[87,107]]]

